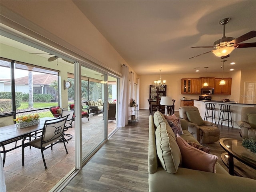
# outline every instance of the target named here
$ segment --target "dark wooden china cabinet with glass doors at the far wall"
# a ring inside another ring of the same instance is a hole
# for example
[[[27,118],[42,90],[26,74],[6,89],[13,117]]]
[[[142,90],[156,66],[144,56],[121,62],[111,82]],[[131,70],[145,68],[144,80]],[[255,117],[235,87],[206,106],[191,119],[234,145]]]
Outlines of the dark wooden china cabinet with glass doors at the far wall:
[[[158,87],[156,85],[149,86],[149,98],[152,104],[159,105],[162,96],[166,96],[166,85],[163,87]]]

